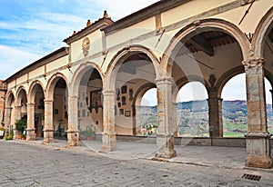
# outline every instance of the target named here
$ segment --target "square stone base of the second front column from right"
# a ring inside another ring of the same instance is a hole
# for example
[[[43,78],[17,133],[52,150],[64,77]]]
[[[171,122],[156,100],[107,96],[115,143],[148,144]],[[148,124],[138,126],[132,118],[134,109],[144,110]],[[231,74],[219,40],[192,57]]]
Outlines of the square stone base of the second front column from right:
[[[174,135],[157,134],[157,147],[159,148],[155,159],[170,159],[177,156],[174,149]]]

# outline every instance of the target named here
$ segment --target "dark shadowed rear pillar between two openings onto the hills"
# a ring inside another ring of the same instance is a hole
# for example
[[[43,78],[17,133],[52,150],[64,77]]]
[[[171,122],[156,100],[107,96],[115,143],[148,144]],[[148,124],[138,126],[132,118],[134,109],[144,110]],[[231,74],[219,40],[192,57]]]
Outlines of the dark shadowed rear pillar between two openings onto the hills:
[[[209,88],[207,102],[210,137],[223,137],[222,101],[217,97],[216,87]]]

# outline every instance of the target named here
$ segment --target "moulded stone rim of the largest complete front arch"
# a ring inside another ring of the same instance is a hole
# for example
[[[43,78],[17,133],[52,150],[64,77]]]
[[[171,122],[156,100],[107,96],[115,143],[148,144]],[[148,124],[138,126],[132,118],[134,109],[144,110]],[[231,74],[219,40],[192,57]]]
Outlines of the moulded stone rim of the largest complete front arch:
[[[248,37],[236,26],[225,20],[209,18],[204,20],[197,20],[194,23],[187,25],[181,29],[170,41],[165,53],[163,54],[161,61],[161,74],[163,76],[169,76],[172,71],[172,55],[176,52],[177,44],[181,41],[187,41],[192,36],[207,32],[207,31],[219,31],[226,34],[230,34],[237,41],[241,48],[243,59],[248,59],[248,52],[250,49],[250,43]]]

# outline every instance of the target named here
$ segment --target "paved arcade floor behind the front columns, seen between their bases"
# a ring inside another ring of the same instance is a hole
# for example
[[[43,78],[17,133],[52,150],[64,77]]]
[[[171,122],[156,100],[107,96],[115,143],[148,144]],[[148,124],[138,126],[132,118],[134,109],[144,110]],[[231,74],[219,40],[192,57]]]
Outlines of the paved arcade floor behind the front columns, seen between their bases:
[[[17,141],[18,143],[42,144],[42,140],[34,142]],[[67,148],[65,140],[56,140],[56,143],[49,143],[48,146]],[[147,159],[153,160],[157,152],[156,143],[123,142],[117,141],[117,151],[101,153],[102,142],[99,140],[80,141],[80,146],[69,147],[75,150],[94,152],[100,156],[116,160]],[[272,146],[273,147],[273,146]],[[201,166],[213,166],[223,168],[244,169],[247,156],[246,148],[221,147],[221,146],[197,146],[197,145],[176,145],[177,157],[167,162],[194,164]],[[273,156],[273,149],[271,150]],[[251,168],[250,168],[251,169]],[[259,169],[254,169],[259,170]],[[273,172],[273,169],[266,170]],[[273,177],[273,176],[272,176]],[[273,179],[272,179],[273,180]]]

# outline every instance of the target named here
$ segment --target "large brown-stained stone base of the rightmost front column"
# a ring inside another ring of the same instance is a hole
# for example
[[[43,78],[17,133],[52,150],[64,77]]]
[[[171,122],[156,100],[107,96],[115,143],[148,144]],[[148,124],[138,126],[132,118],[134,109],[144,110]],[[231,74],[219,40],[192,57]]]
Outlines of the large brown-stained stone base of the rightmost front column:
[[[273,167],[268,133],[248,133],[246,166],[270,169]]]

